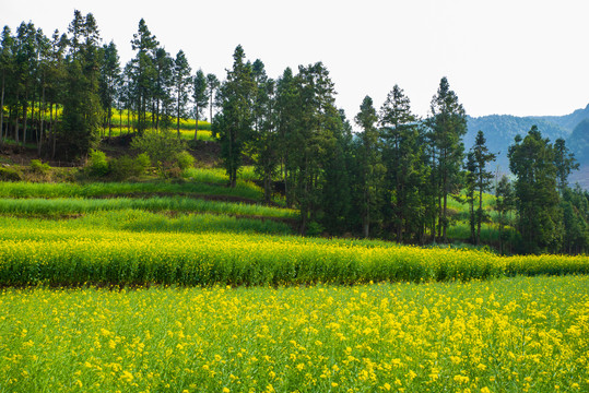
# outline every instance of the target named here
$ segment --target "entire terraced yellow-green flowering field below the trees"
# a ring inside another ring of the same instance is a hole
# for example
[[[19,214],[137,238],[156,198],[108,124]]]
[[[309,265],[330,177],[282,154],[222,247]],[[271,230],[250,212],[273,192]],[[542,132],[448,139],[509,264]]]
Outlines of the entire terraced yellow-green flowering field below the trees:
[[[250,167],[182,176],[0,182],[0,392],[589,390],[586,255],[303,238]]]

